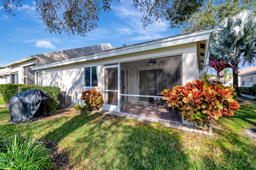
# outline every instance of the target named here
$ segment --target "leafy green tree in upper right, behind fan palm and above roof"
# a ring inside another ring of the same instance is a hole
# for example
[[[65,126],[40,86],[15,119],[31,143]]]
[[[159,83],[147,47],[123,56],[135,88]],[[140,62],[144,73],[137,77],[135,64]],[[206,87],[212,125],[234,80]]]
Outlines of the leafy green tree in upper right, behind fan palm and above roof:
[[[184,21],[182,32],[214,29],[221,20],[243,10],[256,10],[255,0],[204,0],[200,9]]]

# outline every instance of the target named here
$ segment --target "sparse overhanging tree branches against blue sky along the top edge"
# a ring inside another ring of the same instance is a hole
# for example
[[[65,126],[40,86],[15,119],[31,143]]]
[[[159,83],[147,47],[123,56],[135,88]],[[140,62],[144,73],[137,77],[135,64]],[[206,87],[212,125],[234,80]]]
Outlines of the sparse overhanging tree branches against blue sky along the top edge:
[[[131,0],[126,0],[131,1]],[[50,33],[86,36],[96,29],[101,12],[109,12],[111,4],[120,0],[36,0],[36,11]],[[182,24],[202,6],[203,0],[132,0],[142,14],[143,26],[168,20],[170,27]],[[0,0],[6,13],[15,15],[22,0]]]

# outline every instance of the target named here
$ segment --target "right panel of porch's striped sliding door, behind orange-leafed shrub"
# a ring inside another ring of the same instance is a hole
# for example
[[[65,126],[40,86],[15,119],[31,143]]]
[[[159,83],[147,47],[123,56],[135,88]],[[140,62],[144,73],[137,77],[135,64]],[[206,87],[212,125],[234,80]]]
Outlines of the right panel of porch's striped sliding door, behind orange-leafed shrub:
[[[176,85],[181,85],[181,67],[158,69],[158,93]]]

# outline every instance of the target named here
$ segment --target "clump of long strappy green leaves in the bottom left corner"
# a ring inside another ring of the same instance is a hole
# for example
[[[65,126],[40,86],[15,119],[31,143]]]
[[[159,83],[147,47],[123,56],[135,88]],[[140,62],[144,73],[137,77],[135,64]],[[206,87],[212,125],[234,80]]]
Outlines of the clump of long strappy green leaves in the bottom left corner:
[[[3,140],[0,146],[0,169],[9,170],[49,170],[51,168],[50,154],[43,142],[34,141],[15,134],[10,143]]]

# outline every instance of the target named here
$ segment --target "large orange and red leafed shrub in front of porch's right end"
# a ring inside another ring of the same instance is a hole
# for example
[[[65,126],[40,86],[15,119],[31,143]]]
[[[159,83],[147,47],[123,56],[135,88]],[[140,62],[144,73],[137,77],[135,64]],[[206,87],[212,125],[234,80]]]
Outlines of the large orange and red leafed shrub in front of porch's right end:
[[[210,119],[218,119],[222,115],[233,116],[239,109],[232,93],[235,89],[222,84],[208,84],[201,80],[187,82],[185,86],[173,86],[162,92],[163,100],[169,107],[180,109],[184,120],[192,121],[202,127]]]

